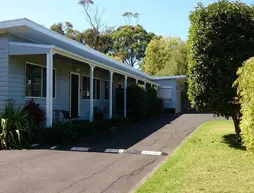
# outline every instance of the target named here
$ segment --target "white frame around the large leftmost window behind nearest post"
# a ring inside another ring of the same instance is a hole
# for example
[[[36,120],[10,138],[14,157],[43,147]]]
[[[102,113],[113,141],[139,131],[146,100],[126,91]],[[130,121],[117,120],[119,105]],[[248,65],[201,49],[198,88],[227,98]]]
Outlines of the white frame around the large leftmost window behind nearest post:
[[[41,96],[40,97],[33,97],[33,96],[26,96],[26,65],[32,65],[32,66],[39,66],[39,67],[41,67],[41,77],[42,77],[42,81],[41,81]],[[26,99],[46,99],[46,97],[43,97],[42,95],[43,95],[43,68],[46,68],[47,69],[47,67],[46,66],[44,66],[44,65],[41,65],[41,64],[36,64],[36,63],[32,63],[32,62],[25,62],[25,77],[24,77],[24,79],[25,79],[25,82],[24,82],[24,89],[25,89],[25,92],[24,92],[24,98],[26,98]],[[57,77],[57,75],[56,75],[56,68],[52,68],[53,69],[53,71],[55,71],[55,97],[53,97],[53,99],[56,99],[56,82],[57,82],[57,80],[56,80],[56,77]],[[46,70],[46,73],[47,73],[47,70]],[[46,82],[46,84],[47,84],[47,82]]]

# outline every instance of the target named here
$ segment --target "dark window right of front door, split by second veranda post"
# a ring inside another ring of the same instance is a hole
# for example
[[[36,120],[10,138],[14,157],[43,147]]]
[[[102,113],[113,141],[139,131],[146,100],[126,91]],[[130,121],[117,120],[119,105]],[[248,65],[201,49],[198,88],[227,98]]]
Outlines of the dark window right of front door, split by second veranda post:
[[[101,99],[101,84],[100,80],[93,79],[93,99]],[[83,92],[82,99],[90,99],[90,77],[83,76]]]

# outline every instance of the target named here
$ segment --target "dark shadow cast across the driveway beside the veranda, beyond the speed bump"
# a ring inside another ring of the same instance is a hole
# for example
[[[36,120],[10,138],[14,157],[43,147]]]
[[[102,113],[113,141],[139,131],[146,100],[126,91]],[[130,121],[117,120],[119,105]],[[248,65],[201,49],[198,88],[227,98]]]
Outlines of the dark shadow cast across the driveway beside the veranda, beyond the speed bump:
[[[163,115],[155,117],[151,120],[140,121],[133,123],[116,130],[112,130],[106,135],[92,138],[87,137],[80,140],[79,143],[73,144],[75,147],[89,147],[99,150],[107,148],[112,149],[128,149],[131,146],[142,141],[149,135],[158,131],[173,120],[177,119],[181,114]],[[70,146],[68,146],[70,147]]]

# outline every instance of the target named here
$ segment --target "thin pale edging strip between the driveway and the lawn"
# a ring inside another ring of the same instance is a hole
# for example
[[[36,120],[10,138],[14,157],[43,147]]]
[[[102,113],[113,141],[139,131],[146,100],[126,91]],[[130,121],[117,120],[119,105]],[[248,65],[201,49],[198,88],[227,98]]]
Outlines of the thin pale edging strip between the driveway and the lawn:
[[[209,122],[209,121],[207,121]],[[161,163],[158,163],[152,171],[150,171],[141,181],[139,181],[130,191],[129,193],[135,193],[145,182],[146,180],[151,177],[164,163],[166,163],[166,161],[171,157],[172,154],[174,154],[182,145],[183,143],[189,139],[201,126],[203,126],[205,123],[207,122],[204,122],[202,123],[200,126],[198,126],[190,135],[188,135],[182,142],[180,145],[178,145],[173,151],[171,154],[169,154],[168,156],[165,157],[165,159],[161,162]]]

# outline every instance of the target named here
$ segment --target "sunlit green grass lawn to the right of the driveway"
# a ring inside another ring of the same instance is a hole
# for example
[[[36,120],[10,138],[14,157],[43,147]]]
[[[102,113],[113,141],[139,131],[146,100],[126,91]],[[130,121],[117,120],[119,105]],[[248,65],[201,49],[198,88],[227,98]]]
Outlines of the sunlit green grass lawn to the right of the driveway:
[[[137,193],[254,192],[254,162],[232,134],[231,121],[205,123]]]

